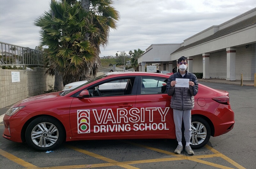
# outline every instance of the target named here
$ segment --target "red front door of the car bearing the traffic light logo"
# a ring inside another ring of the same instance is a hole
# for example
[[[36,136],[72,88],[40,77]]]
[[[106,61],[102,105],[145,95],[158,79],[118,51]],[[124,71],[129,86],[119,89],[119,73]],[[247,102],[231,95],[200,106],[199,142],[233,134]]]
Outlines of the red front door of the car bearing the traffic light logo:
[[[129,77],[126,82],[124,92],[120,89],[115,92],[112,85],[104,85],[101,92],[108,91],[104,96],[99,90],[103,84],[96,84],[88,87],[89,98],[73,99],[70,107],[73,137],[135,135],[134,120],[129,114],[135,108],[136,95],[132,94],[134,78]],[[106,83],[111,84],[109,80]]]

